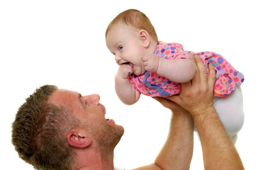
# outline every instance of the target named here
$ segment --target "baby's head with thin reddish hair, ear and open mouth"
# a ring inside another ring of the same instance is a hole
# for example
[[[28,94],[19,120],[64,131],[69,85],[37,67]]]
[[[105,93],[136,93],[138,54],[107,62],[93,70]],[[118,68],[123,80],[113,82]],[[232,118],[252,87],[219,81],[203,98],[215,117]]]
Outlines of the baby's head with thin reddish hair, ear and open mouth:
[[[158,44],[154,26],[144,13],[136,9],[118,14],[108,25],[105,38],[117,64],[129,64],[136,75],[145,71],[142,56],[154,53]]]

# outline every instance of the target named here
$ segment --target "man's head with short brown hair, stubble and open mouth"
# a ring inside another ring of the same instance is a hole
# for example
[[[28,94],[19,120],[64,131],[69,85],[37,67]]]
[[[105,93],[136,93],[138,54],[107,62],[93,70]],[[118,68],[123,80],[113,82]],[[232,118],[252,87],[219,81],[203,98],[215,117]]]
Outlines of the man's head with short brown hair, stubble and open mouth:
[[[72,170],[89,146],[107,154],[123,135],[123,128],[104,115],[98,95],[81,96],[43,85],[20,106],[12,124],[12,143],[20,158],[36,169]]]

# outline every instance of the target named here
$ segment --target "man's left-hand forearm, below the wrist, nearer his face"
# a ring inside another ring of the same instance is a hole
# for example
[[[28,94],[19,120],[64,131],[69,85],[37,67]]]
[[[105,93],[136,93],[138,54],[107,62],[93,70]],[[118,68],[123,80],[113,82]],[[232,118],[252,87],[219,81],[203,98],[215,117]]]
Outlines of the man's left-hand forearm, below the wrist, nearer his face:
[[[173,112],[169,136],[155,161],[163,170],[189,170],[193,154],[193,122],[187,112]]]

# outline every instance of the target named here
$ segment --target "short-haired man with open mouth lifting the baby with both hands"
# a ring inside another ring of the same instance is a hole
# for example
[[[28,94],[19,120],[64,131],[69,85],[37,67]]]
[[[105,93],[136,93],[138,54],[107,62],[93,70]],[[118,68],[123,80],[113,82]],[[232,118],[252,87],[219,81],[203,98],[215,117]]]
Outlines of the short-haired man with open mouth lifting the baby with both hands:
[[[169,98],[174,102],[156,98],[172,109],[170,134],[155,163],[136,170],[188,170],[193,153],[192,119],[202,143],[205,169],[243,169],[213,107],[214,68],[209,66],[207,79],[201,60],[196,58],[196,64],[192,84],[183,84],[181,94]],[[104,115],[97,94],[81,96],[44,85],[20,106],[12,126],[12,143],[20,157],[36,169],[113,170],[114,149],[124,130]]]

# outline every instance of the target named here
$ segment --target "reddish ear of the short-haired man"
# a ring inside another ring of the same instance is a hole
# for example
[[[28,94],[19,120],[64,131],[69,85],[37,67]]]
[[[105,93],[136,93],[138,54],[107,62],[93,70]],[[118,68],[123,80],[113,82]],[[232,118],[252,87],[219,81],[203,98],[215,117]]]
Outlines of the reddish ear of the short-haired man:
[[[86,136],[82,128],[71,129],[67,134],[68,143],[77,148],[85,148],[91,145],[92,139]]]

